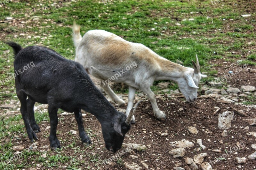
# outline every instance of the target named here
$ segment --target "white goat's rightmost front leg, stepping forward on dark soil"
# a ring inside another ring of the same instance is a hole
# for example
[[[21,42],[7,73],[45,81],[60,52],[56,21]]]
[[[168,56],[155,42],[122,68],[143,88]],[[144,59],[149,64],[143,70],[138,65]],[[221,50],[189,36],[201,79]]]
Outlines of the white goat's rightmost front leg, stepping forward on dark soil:
[[[154,115],[157,117],[157,119],[161,120],[161,121],[164,121],[166,120],[166,115],[164,114],[164,112],[162,112],[157,104],[156,104],[156,97],[155,97],[155,94],[154,92],[151,91],[150,87],[142,87],[141,90],[146,93],[148,95],[148,98],[151,102],[151,105],[152,105],[152,108],[153,108],[153,111],[154,111]]]

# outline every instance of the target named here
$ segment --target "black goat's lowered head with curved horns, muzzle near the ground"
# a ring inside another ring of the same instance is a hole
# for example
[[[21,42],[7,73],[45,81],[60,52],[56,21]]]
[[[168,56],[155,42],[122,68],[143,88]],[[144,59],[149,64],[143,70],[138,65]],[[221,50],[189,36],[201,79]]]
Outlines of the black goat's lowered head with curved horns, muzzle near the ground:
[[[123,113],[119,112],[111,124],[104,123],[102,124],[102,134],[105,141],[106,148],[109,151],[116,152],[118,151],[123,144],[125,134],[131,128],[131,120],[133,113],[138,107],[139,101],[134,107],[132,107],[129,115],[126,117]],[[111,126],[111,127],[109,127]]]

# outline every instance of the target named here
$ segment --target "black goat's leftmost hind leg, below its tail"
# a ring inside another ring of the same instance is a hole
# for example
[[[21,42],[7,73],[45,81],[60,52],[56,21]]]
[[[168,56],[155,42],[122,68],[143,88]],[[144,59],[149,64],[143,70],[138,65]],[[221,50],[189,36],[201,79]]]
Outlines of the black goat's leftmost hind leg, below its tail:
[[[36,133],[33,131],[30,125],[29,121],[29,115],[27,110],[27,95],[24,92],[17,92],[17,96],[20,100],[20,112],[28,133],[28,138],[31,140],[31,142],[37,140]]]

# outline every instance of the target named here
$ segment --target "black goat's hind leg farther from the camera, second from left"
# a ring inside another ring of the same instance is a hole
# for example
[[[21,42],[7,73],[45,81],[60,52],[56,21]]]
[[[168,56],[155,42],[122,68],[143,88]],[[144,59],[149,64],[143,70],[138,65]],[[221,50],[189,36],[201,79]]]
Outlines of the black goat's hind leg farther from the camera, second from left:
[[[39,126],[36,124],[35,120],[35,113],[34,113],[34,105],[35,101],[31,100],[28,98],[27,100],[27,110],[28,110],[28,115],[29,115],[29,121],[30,121],[30,126],[34,130],[35,133],[41,132]]]

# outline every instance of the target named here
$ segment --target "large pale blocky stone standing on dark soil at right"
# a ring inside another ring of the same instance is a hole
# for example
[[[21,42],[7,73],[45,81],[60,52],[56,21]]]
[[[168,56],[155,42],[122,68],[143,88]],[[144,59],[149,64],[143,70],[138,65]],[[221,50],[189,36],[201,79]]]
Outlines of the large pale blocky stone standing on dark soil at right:
[[[222,114],[219,114],[218,119],[218,128],[219,129],[228,129],[231,127],[231,121],[234,119],[234,112],[226,111]]]

